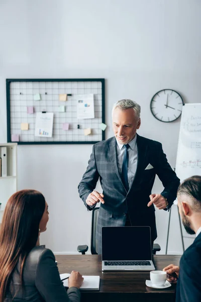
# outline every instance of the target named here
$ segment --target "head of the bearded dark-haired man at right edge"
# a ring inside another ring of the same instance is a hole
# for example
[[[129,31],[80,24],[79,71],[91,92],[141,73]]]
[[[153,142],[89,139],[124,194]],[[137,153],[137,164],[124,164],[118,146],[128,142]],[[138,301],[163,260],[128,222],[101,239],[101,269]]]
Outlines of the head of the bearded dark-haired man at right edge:
[[[196,175],[184,180],[178,188],[177,199],[186,232],[195,234],[197,225],[201,222],[201,176]]]

